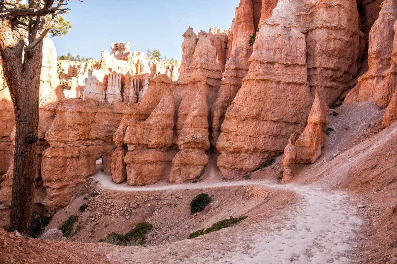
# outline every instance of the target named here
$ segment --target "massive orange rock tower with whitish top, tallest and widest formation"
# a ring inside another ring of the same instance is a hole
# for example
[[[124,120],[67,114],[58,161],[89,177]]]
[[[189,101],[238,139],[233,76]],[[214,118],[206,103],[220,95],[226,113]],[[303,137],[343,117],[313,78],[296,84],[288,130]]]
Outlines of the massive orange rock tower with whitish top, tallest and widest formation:
[[[356,2],[338,2],[280,1],[260,23],[249,72],[216,145],[224,177],[283,152],[288,137],[303,130],[310,92],[331,104],[357,75],[364,41]]]

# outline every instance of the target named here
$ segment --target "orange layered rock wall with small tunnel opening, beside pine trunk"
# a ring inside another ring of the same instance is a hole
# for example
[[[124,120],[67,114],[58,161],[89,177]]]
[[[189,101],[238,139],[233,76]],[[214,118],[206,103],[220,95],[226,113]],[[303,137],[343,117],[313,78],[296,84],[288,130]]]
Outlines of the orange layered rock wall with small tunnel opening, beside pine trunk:
[[[124,110],[124,103],[110,105],[79,99],[59,102],[45,136],[50,147],[42,154],[41,176],[47,194],[43,205],[52,210],[69,204],[71,195],[77,194],[95,173],[98,158],[102,158],[104,171],[110,174],[116,147],[112,137]]]

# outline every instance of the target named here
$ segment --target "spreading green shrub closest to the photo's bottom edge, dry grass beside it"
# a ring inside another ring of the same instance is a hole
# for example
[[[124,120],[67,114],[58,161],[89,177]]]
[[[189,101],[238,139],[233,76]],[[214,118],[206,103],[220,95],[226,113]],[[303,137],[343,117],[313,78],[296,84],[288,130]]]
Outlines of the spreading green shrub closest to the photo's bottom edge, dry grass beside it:
[[[113,245],[137,246],[146,243],[146,234],[153,228],[153,225],[148,222],[140,222],[125,235],[120,235],[117,232],[108,234],[104,239],[99,239],[99,242],[109,243]]]

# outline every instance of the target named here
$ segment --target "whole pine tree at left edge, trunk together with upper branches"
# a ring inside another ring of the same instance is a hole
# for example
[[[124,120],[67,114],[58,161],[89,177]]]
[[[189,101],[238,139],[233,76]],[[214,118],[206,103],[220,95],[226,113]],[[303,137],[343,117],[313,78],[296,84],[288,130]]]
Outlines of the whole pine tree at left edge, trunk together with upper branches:
[[[63,7],[67,1],[58,1],[57,7],[53,7],[54,0],[27,3],[29,8],[20,8],[19,0],[0,0],[0,56],[14,105],[16,125],[8,231],[18,230],[25,234],[30,230],[37,175],[42,40],[58,12],[66,11]],[[46,15],[50,13],[54,15],[46,26]]]

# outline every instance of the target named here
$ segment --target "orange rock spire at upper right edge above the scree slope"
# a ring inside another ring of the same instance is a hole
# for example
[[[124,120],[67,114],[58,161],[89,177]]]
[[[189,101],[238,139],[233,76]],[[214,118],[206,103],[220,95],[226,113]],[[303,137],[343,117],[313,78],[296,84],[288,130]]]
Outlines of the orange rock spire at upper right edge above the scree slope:
[[[358,79],[358,84],[349,92],[345,102],[374,101],[380,108],[390,102],[396,84],[397,2],[385,0],[379,18],[375,21],[369,37],[369,70]]]

